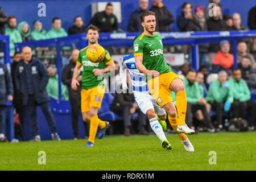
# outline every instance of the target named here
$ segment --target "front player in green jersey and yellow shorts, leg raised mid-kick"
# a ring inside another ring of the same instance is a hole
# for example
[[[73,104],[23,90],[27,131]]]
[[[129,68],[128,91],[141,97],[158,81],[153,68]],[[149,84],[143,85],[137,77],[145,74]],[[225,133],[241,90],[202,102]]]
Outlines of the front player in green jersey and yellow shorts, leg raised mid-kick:
[[[143,11],[140,16],[144,32],[134,41],[134,57],[137,69],[146,75],[148,89],[156,103],[168,114],[171,126],[178,133],[183,144],[191,151],[194,148],[185,134],[195,133],[185,124],[187,97],[182,79],[168,67],[164,61],[162,37],[155,34],[156,15],[152,11]],[[171,97],[176,92],[176,107]],[[155,118],[152,115],[148,119]]]

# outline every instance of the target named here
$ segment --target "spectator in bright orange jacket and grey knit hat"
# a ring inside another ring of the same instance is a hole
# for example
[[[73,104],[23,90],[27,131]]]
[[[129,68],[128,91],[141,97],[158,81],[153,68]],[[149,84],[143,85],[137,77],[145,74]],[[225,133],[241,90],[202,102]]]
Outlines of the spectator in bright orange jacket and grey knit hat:
[[[217,73],[221,70],[225,70],[228,75],[231,75],[231,69],[234,64],[234,56],[229,53],[230,44],[227,40],[220,42],[221,50],[217,52],[217,55],[213,58],[212,73]]]

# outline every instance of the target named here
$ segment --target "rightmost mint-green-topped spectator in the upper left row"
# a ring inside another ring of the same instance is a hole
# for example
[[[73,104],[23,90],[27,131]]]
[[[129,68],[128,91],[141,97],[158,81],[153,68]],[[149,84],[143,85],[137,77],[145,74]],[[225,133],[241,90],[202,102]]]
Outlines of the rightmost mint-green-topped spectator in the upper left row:
[[[55,17],[52,19],[52,28],[48,31],[48,38],[60,38],[63,36],[68,36],[68,34],[64,28],[61,27],[61,19]]]

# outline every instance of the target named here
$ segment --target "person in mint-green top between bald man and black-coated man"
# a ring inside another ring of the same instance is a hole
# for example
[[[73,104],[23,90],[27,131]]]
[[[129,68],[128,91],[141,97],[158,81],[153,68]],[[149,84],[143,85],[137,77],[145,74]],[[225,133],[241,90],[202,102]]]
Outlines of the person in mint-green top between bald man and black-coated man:
[[[49,73],[49,81],[46,86],[47,93],[52,98],[59,100],[59,76],[56,74],[56,68],[53,68],[51,65],[48,66],[47,71]],[[68,100],[68,90],[67,86],[61,83],[61,98],[64,101]]]

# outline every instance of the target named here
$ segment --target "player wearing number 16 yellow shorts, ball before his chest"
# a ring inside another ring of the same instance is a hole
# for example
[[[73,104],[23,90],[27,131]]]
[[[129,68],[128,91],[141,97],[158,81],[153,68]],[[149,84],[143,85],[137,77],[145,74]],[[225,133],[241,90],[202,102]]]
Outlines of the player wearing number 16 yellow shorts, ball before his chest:
[[[87,32],[88,46],[92,44],[98,44],[98,28],[90,25]],[[79,52],[79,58],[74,69],[72,78],[72,89],[76,90],[79,81],[76,78],[80,74],[80,68],[83,66],[82,71],[82,90],[81,90],[81,112],[82,119],[85,122],[90,122],[89,139],[86,143],[86,147],[94,146],[94,138],[96,137],[98,126],[100,131],[98,138],[101,139],[105,135],[105,131],[109,126],[108,121],[101,121],[98,118],[98,109],[101,107],[102,98],[105,93],[104,80],[98,80],[98,76],[101,73],[110,72],[110,69],[115,69],[113,59],[110,57],[109,52],[105,50],[105,58],[100,63],[93,63],[86,57],[86,50],[88,46],[81,49]]]

